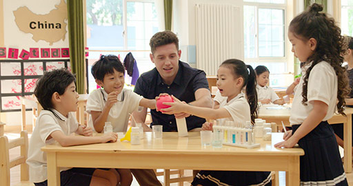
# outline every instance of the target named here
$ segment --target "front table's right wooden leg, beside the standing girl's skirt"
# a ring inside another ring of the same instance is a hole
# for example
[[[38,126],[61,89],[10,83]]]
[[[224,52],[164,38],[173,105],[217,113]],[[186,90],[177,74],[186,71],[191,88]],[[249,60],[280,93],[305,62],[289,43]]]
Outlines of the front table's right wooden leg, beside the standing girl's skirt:
[[[285,182],[288,183],[288,185],[300,185],[301,178],[299,156],[290,157],[289,170],[288,172],[285,172],[285,178]]]

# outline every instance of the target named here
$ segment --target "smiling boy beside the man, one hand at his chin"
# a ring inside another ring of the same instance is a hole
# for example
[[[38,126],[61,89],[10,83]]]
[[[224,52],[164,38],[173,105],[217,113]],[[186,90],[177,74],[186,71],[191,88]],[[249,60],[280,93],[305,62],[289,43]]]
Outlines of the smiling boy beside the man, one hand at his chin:
[[[88,125],[96,132],[103,132],[105,122],[110,122],[113,132],[128,130],[129,114],[140,106],[155,109],[156,101],[124,89],[125,69],[117,56],[101,56],[92,66],[92,75],[101,88],[94,90],[87,100],[86,112],[90,114]],[[117,169],[121,185],[132,183],[130,169]]]

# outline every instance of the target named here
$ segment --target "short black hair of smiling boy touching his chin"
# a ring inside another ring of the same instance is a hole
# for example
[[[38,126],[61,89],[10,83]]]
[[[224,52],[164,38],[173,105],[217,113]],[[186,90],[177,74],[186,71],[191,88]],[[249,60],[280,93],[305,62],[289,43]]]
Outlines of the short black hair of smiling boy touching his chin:
[[[125,74],[125,68],[120,59],[114,55],[101,55],[98,61],[92,65],[92,75],[94,79],[103,81],[105,74],[113,74],[114,69]]]

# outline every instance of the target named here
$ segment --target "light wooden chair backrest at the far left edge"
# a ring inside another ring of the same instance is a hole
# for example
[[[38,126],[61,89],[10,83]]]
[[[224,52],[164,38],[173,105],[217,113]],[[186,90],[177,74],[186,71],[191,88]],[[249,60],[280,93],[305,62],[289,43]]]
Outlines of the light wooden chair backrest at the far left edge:
[[[10,161],[10,149],[20,146],[21,154]],[[0,136],[0,185],[10,186],[10,168],[21,165],[21,181],[29,179],[28,165],[28,133],[21,132],[21,137],[8,141],[8,137]]]

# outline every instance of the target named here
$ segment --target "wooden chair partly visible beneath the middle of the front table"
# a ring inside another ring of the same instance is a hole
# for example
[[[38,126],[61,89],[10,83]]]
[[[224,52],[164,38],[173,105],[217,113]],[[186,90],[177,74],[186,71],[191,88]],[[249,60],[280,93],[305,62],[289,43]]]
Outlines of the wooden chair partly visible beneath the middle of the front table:
[[[170,186],[170,183],[178,183],[179,186],[183,186],[185,181],[192,182],[194,179],[194,176],[185,176],[184,175],[184,170],[183,169],[163,169],[163,172],[157,172],[156,169],[154,169],[154,172],[156,173],[157,176],[164,176],[164,186]],[[178,174],[177,178],[170,178],[170,175],[173,174]]]

